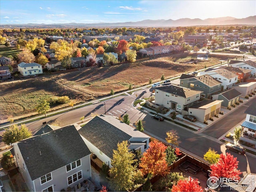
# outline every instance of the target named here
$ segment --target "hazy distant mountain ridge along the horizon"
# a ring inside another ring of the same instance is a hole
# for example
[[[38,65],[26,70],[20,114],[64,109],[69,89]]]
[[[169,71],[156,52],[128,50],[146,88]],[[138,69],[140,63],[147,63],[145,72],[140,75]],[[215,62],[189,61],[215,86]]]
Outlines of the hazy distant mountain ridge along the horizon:
[[[176,26],[205,26],[205,25],[256,25],[256,15],[242,19],[234,17],[208,18],[180,18],[178,20],[142,20],[138,22],[118,23],[66,23],[66,24],[2,24],[1,26],[98,26],[98,27],[176,27]]]

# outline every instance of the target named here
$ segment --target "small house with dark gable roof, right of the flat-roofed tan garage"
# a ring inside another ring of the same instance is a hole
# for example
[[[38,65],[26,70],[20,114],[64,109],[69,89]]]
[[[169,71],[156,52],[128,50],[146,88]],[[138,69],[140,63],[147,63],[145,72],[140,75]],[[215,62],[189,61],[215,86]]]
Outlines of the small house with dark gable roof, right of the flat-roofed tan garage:
[[[236,89],[230,89],[219,94],[213,95],[212,100],[223,100],[221,106],[230,107],[236,102],[239,102],[239,98],[242,94]]]

